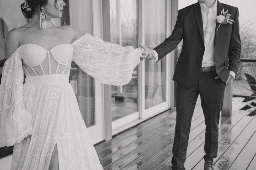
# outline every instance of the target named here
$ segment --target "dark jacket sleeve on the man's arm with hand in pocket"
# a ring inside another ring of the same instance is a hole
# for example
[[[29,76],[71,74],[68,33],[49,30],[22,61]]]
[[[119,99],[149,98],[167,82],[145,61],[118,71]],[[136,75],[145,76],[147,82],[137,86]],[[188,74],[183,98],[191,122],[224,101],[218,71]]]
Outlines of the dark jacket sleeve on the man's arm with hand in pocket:
[[[241,61],[241,40],[240,40],[240,34],[239,34],[239,21],[238,21],[238,8],[236,10],[236,15],[234,18],[234,22],[232,25],[232,33],[231,33],[231,39],[229,44],[229,67],[228,69],[230,71],[233,71],[235,74],[237,74],[237,71],[240,67]]]

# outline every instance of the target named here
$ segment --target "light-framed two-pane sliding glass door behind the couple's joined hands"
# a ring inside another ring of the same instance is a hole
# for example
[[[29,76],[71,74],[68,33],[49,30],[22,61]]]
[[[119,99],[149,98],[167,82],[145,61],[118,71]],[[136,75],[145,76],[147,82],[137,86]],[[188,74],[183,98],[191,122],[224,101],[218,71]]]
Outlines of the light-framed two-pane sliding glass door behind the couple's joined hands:
[[[138,48],[142,43],[154,48],[166,38],[166,0],[109,0],[111,43]],[[169,23],[169,22],[168,22]],[[112,86],[112,131],[118,133],[124,127],[134,125],[156,115],[168,104],[168,59],[158,62],[141,61],[132,74],[132,80],[124,86]],[[132,122],[132,123],[131,123]],[[127,125],[129,124],[129,125]],[[127,126],[126,126],[127,125]]]

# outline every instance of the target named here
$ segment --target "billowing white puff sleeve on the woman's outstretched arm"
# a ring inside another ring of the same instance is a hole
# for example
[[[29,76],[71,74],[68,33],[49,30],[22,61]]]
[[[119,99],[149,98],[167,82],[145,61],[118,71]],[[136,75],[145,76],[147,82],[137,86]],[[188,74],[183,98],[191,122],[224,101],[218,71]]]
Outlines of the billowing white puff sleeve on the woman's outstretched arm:
[[[141,49],[122,47],[84,34],[72,43],[74,61],[84,72],[108,85],[122,86],[132,78]]]

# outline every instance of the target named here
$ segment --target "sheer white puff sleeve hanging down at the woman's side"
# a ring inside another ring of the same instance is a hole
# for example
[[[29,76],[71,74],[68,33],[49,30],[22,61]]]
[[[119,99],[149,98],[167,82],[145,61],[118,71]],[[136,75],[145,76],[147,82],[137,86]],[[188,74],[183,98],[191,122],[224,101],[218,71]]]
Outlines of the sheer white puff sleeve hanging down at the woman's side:
[[[23,103],[20,48],[5,62],[0,85],[0,147],[12,146],[32,134],[31,114]]]

